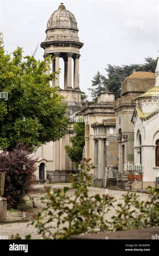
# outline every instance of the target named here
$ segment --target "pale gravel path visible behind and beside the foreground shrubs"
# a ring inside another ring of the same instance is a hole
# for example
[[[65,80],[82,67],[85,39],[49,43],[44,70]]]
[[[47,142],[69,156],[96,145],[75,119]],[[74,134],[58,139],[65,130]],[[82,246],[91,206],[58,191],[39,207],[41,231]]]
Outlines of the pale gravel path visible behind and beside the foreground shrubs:
[[[57,189],[57,188],[63,188],[64,186],[68,186],[68,184],[54,184],[54,185],[50,185],[50,187],[52,189]],[[35,191],[37,190],[37,192],[35,193]],[[44,185],[36,185],[35,189],[32,191],[31,196],[34,197],[35,203],[38,206],[37,211],[42,207],[40,204],[40,198],[42,196],[42,194],[45,193],[45,188]],[[108,189],[108,194],[110,196],[113,196],[114,199],[117,200],[117,202],[115,203],[115,206],[117,203],[119,203],[121,201],[122,195],[126,194],[127,191],[118,191],[118,190],[109,190]],[[70,195],[73,194],[73,191],[69,192]],[[104,188],[96,188],[96,187],[90,187],[89,188],[89,195],[103,195],[105,194],[105,189]],[[140,195],[140,200],[146,201],[149,197],[148,194],[144,194],[144,193],[137,193],[138,195]],[[30,203],[31,206],[31,202],[28,201],[28,203]],[[115,208],[114,207],[111,211],[109,211],[107,213],[107,219],[110,219],[111,216],[113,214],[115,214]],[[17,215],[19,216],[19,214],[17,213]],[[16,219],[16,213],[15,212],[9,212],[8,213],[8,219],[9,220],[13,220]],[[31,225],[31,220],[28,223],[11,223],[11,224],[2,224],[0,225],[0,236],[8,236],[8,239],[11,237],[11,235],[16,235],[17,233],[19,233],[19,235],[21,236],[22,239],[25,238],[25,235],[28,234],[32,234],[32,239],[42,239],[42,235],[38,235],[37,233],[37,228],[35,228],[33,225]]]

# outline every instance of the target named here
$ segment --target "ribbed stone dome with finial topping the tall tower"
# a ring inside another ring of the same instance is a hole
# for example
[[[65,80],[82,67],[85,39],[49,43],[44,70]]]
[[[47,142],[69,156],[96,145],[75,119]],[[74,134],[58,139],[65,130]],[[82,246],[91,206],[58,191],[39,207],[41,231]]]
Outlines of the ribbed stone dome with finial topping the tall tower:
[[[66,10],[63,3],[60,4],[58,10],[54,11],[47,23],[47,29],[54,28],[70,28],[77,30],[77,21],[74,15]]]

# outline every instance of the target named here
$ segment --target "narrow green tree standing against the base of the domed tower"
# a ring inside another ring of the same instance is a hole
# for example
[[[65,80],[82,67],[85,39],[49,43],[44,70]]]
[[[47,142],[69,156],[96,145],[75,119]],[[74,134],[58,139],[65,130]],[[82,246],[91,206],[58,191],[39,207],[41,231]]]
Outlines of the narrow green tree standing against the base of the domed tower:
[[[76,123],[73,124],[75,136],[70,138],[72,146],[65,145],[66,153],[73,163],[79,163],[82,160],[83,147],[85,146],[85,122],[82,117],[79,117]]]

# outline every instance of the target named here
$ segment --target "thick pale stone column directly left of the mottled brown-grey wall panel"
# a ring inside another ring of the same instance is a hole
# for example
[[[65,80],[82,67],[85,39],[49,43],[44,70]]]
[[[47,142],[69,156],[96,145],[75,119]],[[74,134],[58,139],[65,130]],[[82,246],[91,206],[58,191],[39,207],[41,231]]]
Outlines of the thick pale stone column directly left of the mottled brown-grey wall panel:
[[[104,178],[104,140],[103,138],[98,138],[98,170],[97,179],[98,184],[102,186]]]

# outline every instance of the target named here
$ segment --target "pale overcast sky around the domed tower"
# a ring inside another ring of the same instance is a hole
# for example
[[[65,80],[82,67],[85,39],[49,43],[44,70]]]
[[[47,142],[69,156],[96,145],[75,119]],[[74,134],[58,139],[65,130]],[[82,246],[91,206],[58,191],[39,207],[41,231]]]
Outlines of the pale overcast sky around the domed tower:
[[[40,43],[50,15],[62,1],[0,0],[0,31],[5,49],[17,46],[24,55],[34,52],[43,59]],[[144,57],[158,57],[158,1],[63,1],[75,16],[80,49],[80,88],[88,94],[91,79],[99,71],[106,76],[107,64],[143,63]],[[60,87],[63,88],[63,63]],[[91,98],[89,97],[89,100]]]

